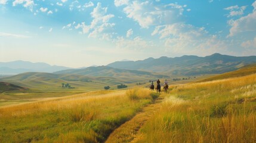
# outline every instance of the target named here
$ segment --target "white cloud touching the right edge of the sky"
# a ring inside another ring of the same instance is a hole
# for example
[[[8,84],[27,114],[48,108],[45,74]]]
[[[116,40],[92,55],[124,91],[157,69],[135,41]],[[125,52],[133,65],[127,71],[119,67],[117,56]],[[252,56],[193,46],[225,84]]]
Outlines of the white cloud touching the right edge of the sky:
[[[229,25],[232,26],[229,30],[230,34],[229,36],[235,36],[238,33],[242,32],[254,32],[256,31],[256,11],[255,11],[255,5],[256,3],[254,2],[252,6],[254,7],[254,10],[252,13],[240,17],[238,20],[230,20]]]

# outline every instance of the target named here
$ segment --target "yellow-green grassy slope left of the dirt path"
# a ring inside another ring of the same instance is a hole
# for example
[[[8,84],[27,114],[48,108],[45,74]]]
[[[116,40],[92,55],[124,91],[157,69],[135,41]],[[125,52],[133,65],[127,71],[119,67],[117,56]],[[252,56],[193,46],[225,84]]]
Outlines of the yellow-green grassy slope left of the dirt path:
[[[103,142],[157,97],[148,89],[97,91],[0,108],[0,142]]]

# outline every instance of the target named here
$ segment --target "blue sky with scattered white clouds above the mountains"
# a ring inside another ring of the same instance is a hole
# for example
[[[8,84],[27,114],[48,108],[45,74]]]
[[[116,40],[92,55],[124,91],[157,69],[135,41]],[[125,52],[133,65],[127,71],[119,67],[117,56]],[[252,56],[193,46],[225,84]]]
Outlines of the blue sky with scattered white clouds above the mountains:
[[[256,55],[256,1],[0,0],[0,62]]]

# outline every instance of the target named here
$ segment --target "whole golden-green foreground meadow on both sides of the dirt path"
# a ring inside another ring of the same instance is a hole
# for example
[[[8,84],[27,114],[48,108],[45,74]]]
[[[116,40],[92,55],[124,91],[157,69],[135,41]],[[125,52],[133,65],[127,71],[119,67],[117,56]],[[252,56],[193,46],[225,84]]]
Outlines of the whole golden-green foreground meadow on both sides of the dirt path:
[[[0,142],[104,142],[115,129],[109,142],[256,142],[254,71],[169,82],[158,104],[152,103],[159,95],[144,88],[148,82],[83,94],[59,87],[4,92]]]

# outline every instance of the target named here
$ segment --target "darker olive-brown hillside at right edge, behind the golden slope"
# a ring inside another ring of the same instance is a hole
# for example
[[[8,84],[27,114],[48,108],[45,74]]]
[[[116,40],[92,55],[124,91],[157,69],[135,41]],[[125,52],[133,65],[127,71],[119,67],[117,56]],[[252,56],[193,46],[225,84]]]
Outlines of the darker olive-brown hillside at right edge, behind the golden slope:
[[[230,71],[228,73],[220,74],[217,76],[212,76],[203,80],[198,80],[196,82],[208,82],[212,80],[218,80],[218,79],[227,79],[231,77],[240,77],[240,76],[246,76],[249,74],[254,74],[256,73],[256,64],[248,65],[245,67],[242,67],[236,71]]]

